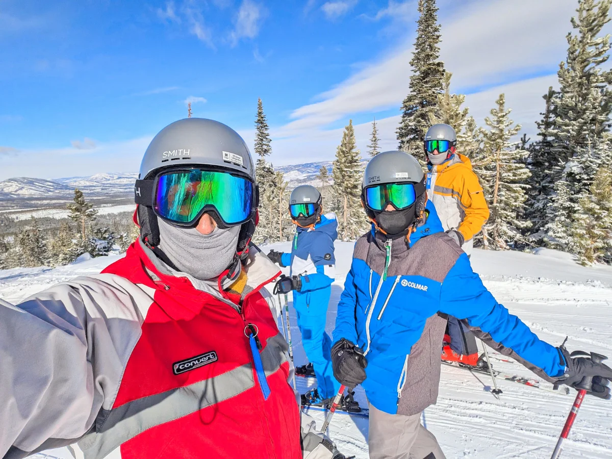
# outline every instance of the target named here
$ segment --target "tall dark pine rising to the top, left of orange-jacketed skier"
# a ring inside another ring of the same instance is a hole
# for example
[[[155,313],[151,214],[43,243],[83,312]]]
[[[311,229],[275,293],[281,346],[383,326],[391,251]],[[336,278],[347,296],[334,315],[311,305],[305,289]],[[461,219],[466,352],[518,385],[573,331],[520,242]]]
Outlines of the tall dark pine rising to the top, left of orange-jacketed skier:
[[[400,127],[396,131],[399,149],[416,157],[422,155],[430,114],[435,110],[444,77],[444,62],[439,60],[441,34],[436,0],[419,0],[419,13],[410,61],[410,92],[401,105]]]

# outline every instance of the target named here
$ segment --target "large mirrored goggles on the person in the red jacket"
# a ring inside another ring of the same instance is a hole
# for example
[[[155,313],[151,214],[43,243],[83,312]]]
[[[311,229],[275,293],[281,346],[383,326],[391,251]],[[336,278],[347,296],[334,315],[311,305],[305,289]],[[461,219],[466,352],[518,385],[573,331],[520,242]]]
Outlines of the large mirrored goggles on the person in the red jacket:
[[[221,171],[179,170],[155,179],[153,208],[157,215],[179,225],[193,225],[214,210],[225,225],[250,218],[255,200],[253,182]]]

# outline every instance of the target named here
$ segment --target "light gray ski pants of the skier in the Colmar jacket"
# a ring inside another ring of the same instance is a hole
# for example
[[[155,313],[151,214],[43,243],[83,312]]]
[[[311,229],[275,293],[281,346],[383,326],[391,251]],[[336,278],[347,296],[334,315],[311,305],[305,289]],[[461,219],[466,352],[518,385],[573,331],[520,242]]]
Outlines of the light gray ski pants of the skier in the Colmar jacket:
[[[370,459],[446,459],[420,414],[388,414],[370,405]]]

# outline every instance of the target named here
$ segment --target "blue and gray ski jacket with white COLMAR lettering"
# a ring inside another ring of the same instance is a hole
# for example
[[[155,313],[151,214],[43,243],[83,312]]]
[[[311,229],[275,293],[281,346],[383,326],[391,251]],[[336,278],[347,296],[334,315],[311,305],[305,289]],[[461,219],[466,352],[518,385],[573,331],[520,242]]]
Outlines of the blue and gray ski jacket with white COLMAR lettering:
[[[409,244],[387,239],[374,228],[355,244],[334,342],[346,338],[364,349],[368,366],[362,386],[368,401],[390,414],[411,412],[402,400],[414,400],[405,387],[412,376],[407,374],[412,346],[426,321],[440,313],[466,319],[546,375],[561,376],[565,360],[558,349],[494,299],[472,271],[468,256],[442,231],[433,204],[426,209],[427,220],[411,234]],[[428,342],[429,348],[436,346],[438,359],[441,345]]]

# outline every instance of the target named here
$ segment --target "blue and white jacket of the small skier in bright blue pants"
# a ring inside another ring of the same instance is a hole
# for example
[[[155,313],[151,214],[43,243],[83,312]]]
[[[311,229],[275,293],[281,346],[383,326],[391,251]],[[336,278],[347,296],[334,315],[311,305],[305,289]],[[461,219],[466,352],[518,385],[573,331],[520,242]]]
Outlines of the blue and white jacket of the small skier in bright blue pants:
[[[291,253],[283,253],[281,263],[291,267],[291,275],[302,276],[302,288],[293,291],[293,304],[298,312],[308,307],[327,311],[330,286],[334,282],[336,259],[334,241],[338,222],[333,213],[321,215],[314,228],[296,227]]]

